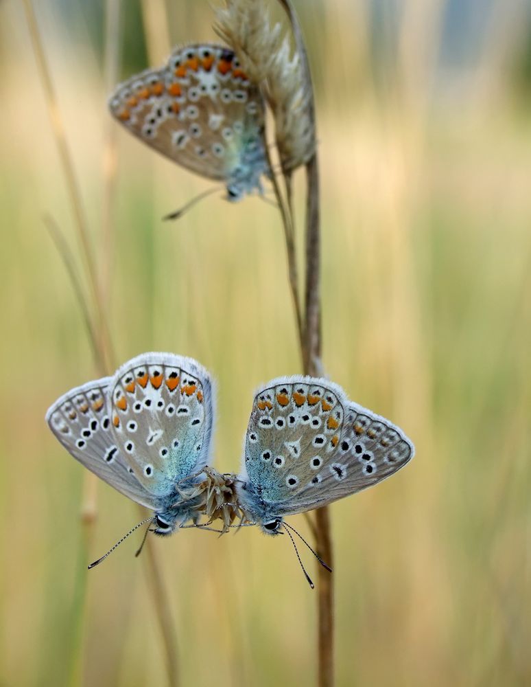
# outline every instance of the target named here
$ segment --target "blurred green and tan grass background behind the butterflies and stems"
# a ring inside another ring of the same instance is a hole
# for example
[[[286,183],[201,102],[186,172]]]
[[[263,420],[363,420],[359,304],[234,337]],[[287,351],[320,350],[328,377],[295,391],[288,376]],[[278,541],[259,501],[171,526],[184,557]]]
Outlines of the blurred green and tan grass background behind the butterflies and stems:
[[[109,269],[117,360],[172,350],[207,365],[219,381],[215,465],[237,470],[252,391],[300,369],[279,217],[259,199],[214,198],[161,223],[207,183],[110,122],[108,8],[36,5]],[[165,41],[215,40],[208,3],[122,5],[121,78],[157,49],[158,66]],[[397,477],[332,508],[338,684],[530,684],[530,3],[296,6],[318,102],[325,370],[417,449]],[[75,245],[20,2],[0,3],[0,34],[0,683],[165,684],[134,541],[88,576],[86,616],[75,597],[89,562],[83,471],[44,414],[97,373],[43,224],[53,214]],[[137,519],[100,484],[90,560]],[[287,544],[254,530],[156,541],[182,684],[311,684],[315,593]]]

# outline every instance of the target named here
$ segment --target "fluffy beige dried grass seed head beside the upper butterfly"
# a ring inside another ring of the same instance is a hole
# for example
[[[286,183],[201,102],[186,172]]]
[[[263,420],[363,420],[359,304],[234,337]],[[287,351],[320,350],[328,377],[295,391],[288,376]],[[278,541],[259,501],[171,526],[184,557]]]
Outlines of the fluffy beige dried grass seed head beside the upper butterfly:
[[[305,164],[314,153],[315,125],[303,59],[292,51],[281,25],[271,25],[262,0],[226,0],[216,14],[215,31],[236,52],[270,106],[283,170]]]

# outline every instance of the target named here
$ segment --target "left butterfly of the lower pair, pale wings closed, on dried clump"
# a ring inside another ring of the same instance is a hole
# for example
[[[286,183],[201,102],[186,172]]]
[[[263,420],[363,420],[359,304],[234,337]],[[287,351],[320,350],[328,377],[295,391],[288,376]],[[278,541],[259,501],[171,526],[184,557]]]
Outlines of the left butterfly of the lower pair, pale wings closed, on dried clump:
[[[46,420],[76,460],[154,511],[156,534],[217,517],[230,500],[230,483],[207,467],[213,383],[191,358],[143,353],[58,398]]]

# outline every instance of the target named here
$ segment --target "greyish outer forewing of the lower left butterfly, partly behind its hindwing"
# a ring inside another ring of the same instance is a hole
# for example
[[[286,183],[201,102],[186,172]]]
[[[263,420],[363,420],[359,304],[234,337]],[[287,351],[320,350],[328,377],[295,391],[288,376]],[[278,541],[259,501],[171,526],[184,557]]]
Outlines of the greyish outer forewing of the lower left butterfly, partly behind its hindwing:
[[[155,509],[156,502],[130,472],[110,429],[111,379],[97,379],[67,392],[49,408],[46,421],[64,448],[88,470],[124,496]]]

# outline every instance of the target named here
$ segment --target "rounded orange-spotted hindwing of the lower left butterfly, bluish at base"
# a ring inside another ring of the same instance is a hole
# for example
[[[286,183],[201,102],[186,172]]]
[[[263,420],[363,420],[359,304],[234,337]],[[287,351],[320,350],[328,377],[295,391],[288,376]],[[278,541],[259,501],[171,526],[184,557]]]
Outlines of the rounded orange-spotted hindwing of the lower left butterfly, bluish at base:
[[[209,458],[212,382],[191,358],[144,353],[110,383],[111,431],[147,493],[164,499]]]

